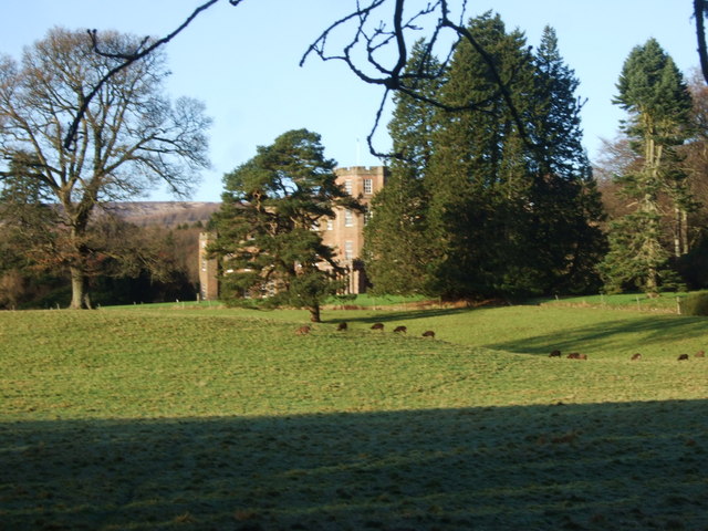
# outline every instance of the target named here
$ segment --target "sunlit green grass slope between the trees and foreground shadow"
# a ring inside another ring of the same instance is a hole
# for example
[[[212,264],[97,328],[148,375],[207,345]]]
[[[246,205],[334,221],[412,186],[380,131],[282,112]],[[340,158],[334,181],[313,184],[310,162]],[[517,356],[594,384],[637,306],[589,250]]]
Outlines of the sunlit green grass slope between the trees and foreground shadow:
[[[348,316],[344,333],[323,323],[299,336],[296,322],[230,311],[8,312],[2,413],[281,415],[706,394],[706,364],[676,362],[708,346],[702,319],[539,306]],[[368,330],[374,316],[408,334]],[[420,336],[428,329],[436,340]],[[549,360],[553,348],[591,363]],[[634,352],[642,363],[629,363]]]

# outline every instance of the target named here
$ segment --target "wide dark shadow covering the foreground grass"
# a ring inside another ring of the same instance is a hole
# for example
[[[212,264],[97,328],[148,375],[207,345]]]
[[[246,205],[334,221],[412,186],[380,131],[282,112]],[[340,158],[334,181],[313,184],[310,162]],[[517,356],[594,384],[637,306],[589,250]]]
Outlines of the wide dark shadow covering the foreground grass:
[[[706,529],[706,400],[0,425],[3,529]]]

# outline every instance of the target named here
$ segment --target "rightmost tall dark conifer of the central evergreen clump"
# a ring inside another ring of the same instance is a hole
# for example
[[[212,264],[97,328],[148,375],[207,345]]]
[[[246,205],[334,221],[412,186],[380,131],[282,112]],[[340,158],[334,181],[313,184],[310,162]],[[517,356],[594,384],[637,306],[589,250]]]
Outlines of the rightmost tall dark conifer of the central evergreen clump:
[[[606,252],[603,206],[582,146],[580,82],[562,60],[555,31],[546,27],[535,53],[534,107],[529,132],[535,267],[544,291],[600,287],[596,264]]]

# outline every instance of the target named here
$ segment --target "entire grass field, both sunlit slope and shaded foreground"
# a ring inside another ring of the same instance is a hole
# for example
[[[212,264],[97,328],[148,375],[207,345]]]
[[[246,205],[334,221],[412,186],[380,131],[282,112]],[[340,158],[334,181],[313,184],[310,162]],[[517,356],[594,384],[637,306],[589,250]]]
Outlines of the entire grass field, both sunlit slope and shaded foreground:
[[[612,308],[0,313],[0,529],[708,529],[708,321]]]

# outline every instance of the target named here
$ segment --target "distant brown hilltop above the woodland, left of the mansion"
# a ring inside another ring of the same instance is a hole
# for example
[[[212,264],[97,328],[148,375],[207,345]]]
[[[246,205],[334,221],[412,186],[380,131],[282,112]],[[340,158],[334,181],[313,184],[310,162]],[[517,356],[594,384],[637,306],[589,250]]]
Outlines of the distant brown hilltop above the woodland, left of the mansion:
[[[220,206],[220,202],[199,201],[134,201],[111,204],[107,209],[139,227],[176,227],[199,221],[206,225]]]

